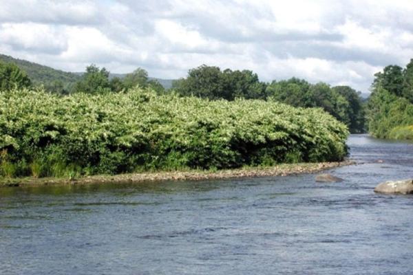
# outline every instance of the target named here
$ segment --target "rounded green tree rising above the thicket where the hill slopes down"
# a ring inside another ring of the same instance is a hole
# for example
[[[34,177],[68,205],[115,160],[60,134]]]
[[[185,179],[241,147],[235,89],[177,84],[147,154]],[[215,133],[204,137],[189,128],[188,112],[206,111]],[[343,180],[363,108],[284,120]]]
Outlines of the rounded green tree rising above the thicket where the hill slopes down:
[[[75,91],[87,94],[102,94],[111,91],[109,71],[105,68],[99,69],[94,64],[87,66],[82,79],[76,83]]]

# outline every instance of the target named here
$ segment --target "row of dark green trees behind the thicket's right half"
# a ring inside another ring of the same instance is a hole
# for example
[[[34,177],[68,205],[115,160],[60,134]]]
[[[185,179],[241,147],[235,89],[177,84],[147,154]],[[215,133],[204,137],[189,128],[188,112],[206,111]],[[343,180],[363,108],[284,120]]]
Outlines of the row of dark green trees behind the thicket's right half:
[[[202,65],[189,70],[187,78],[173,82],[172,89],[181,96],[198,96],[211,100],[235,98],[276,100],[294,107],[321,107],[345,123],[351,133],[363,133],[364,108],[360,93],[348,86],[312,85],[306,80],[262,83],[251,71],[232,71]]]

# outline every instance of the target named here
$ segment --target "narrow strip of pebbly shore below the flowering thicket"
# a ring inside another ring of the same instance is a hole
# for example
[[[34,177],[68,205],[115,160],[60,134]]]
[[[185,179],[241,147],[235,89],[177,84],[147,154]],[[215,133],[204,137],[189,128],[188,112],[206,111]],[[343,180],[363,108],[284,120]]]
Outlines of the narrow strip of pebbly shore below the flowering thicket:
[[[157,173],[129,173],[120,175],[94,175],[79,177],[78,179],[67,178],[36,178],[24,177],[17,179],[0,179],[0,187],[10,186],[50,186],[64,184],[109,184],[109,183],[138,183],[142,181],[184,181],[184,180],[208,180],[208,179],[231,179],[242,177],[273,177],[297,175],[305,173],[317,173],[321,170],[355,164],[352,160],[344,162],[320,162],[302,164],[279,164],[271,167],[246,167],[229,170],[193,170],[173,171]]]

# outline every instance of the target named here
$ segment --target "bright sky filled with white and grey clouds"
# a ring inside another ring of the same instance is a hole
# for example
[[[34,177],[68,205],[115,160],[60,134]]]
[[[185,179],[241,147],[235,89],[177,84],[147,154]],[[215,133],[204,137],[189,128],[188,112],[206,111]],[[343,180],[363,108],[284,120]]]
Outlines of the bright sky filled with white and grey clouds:
[[[413,58],[412,0],[0,0],[0,53],[180,78],[202,64],[369,92]]]

